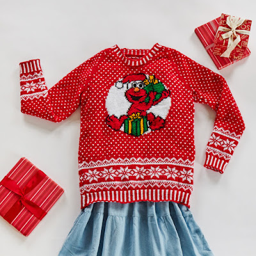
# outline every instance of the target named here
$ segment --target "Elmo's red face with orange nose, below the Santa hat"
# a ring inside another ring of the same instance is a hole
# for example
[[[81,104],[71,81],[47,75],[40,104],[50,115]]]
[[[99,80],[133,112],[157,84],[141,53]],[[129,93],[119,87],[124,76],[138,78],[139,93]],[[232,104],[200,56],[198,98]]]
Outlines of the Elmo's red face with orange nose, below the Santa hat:
[[[143,90],[144,87],[145,84],[143,81],[132,81],[131,83],[127,83],[125,96],[129,102],[143,102],[147,97],[147,92]]]

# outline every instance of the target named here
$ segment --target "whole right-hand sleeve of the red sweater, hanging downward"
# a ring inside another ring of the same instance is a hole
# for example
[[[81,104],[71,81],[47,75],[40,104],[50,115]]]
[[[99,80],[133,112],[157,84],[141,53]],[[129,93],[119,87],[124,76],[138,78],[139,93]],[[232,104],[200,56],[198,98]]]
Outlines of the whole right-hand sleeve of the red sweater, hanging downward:
[[[204,166],[223,173],[245,129],[236,101],[222,76],[180,52],[172,52],[171,56],[181,79],[191,88],[194,102],[216,111]]]

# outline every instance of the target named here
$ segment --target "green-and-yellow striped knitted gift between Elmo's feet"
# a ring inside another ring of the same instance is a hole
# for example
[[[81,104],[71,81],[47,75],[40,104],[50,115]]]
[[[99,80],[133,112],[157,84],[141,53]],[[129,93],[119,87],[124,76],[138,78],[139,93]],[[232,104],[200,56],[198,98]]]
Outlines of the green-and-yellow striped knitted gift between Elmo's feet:
[[[140,112],[129,115],[124,121],[124,132],[132,134],[134,136],[140,136],[144,132],[148,131],[147,118],[141,116]]]

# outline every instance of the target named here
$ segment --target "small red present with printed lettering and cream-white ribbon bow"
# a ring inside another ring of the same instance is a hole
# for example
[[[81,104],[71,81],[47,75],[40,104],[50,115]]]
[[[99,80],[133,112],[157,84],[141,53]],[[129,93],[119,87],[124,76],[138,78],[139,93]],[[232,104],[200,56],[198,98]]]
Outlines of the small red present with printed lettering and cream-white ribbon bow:
[[[213,54],[241,60],[247,49],[252,20],[221,14]]]

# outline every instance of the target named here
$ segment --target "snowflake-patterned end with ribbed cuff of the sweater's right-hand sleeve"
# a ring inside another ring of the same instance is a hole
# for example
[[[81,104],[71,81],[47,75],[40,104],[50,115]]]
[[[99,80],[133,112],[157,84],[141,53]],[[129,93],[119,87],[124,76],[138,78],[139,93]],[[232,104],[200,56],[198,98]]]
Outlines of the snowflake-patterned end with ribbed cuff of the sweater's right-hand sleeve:
[[[241,135],[214,127],[206,147],[204,167],[223,173],[230,161]]]

